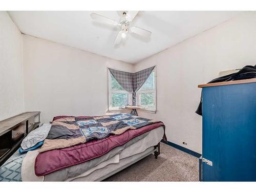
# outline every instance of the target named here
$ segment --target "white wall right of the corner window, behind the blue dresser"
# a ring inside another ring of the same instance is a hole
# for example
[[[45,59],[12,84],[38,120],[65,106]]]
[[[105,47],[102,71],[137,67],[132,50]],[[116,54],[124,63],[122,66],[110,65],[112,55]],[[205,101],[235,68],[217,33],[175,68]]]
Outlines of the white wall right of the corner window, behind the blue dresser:
[[[197,85],[220,71],[256,64],[255,24],[256,13],[245,13],[137,63],[135,71],[157,65],[157,113],[139,115],[162,120],[168,141],[201,154]]]

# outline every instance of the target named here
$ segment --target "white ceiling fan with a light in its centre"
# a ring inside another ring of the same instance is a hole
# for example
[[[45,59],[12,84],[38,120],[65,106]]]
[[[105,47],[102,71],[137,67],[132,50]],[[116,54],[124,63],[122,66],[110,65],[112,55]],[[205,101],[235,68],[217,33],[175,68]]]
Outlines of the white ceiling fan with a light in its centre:
[[[138,14],[138,12],[139,11],[123,11],[121,18],[119,19],[119,22],[117,20],[99,15],[96,13],[91,13],[91,17],[97,22],[120,27],[120,31],[117,34],[117,37],[114,42],[114,44],[117,45],[117,44],[120,44],[122,38],[125,38],[129,31],[144,37],[151,36],[151,31],[147,31],[145,29],[142,29],[136,26],[132,26],[132,27],[130,26],[134,17]]]

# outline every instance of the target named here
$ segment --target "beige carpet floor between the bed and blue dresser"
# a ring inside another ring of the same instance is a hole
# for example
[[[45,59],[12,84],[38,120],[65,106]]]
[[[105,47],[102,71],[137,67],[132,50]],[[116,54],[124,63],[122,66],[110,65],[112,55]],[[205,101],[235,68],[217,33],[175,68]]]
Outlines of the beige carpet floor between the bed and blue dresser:
[[[199,181],[199,159],[161,143],[161,154],[145,157],[105,181]]]

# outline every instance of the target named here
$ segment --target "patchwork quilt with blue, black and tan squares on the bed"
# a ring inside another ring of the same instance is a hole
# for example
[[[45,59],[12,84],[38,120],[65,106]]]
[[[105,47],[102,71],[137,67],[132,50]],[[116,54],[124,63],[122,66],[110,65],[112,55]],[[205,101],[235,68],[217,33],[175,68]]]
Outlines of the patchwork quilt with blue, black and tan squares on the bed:
[[[103,139],[110,135],[120,135],[127,130],[139,129],[157,122],[159,121],[125,113],[95,117],[55,118],[39,152],[66,148],[86,143],[91,139]]]

